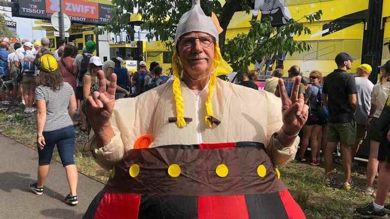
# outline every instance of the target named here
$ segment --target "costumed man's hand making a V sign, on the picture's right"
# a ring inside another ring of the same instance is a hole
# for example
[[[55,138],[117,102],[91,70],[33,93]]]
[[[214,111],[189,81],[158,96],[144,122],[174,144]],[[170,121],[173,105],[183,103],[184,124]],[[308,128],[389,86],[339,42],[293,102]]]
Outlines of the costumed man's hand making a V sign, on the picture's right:
[[[289,135],[295,135],[305,125],[309,114],[309,106],[305,104],[302,97],[298,97],[301,77],[295,79],[291,97],[287,95],[283,80],[279,79],[278,83],[282,99],[283,130]]]

